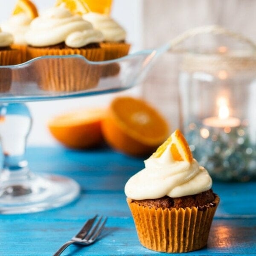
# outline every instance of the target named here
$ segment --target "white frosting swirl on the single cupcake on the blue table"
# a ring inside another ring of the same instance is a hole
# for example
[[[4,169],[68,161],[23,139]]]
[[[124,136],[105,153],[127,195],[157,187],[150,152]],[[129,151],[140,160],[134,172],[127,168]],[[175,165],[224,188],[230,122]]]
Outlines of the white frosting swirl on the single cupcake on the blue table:
[[[212,187],[212,179],[204,167],[172,159],[170,145],[160,157],[145,160],[145,169],[132,176],[125,185],[125,195],[134,200],[172,198],[195,195]]]

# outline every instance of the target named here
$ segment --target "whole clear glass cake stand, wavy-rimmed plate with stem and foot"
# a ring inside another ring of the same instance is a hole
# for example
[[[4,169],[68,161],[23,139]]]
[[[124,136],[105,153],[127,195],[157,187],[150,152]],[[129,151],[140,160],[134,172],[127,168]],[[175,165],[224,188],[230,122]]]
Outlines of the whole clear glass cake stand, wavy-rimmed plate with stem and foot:
[[[38,212],[60,207],[79,195],[76,181],[38,175],[24,157],[32,125],[24,104],[125,90],[137,84],[168,46],[113,61],[90,62],[81,55],[44,56],[0,67],[0,214]]]

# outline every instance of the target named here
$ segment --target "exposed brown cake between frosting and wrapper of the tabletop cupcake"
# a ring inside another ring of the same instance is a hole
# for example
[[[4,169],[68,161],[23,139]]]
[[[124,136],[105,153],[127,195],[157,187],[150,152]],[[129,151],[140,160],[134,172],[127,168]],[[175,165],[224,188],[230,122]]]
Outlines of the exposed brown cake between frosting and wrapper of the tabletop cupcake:
[[[187,195],[180,198],[170,198],[169,196],[164,196],[157,199],[145,199],[145,200],[133,200],[133,202],[140,204],[144,207],[154,207],[154,208],[192,208],[197,207],[199,210],[205,210],[207,207],[213,207],[216,195],[209,189],[205,192],[196,195]]]

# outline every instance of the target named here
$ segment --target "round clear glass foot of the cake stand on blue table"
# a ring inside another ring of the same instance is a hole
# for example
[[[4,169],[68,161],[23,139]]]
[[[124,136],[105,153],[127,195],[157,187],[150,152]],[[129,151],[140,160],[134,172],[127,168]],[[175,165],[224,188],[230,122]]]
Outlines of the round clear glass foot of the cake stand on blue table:
[[[9,177],[1,186],[0,214],[39,212],[61,207],[76,199],[80,192],[78,183],[64,176],[29,173],[29,179],[18,183],[17,176],[16,173],[13,180]]]

